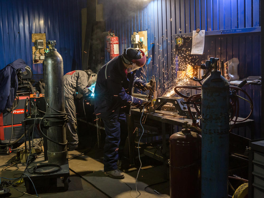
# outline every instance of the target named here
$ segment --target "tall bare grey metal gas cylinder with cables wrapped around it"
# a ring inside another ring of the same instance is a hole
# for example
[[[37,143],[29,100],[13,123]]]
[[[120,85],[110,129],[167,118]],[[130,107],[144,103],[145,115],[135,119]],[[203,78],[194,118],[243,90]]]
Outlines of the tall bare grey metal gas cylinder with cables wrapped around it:
[[[44,62],[44,77],[45,77],[45,100],[48,105],[46,114],[58,114],[65,112],[64,88],[63,88],[63,60],[62,56],[56,49],[50,49],[46,54]],[[56,111],[55,111],[56,110]],[[47,135],[54,142],[66,143],[66,132],[64,125],[49,125],[46,126]],[[48,161],[52,164],[66,164],[67,150],[66,144],[59,145],[48,140]]]

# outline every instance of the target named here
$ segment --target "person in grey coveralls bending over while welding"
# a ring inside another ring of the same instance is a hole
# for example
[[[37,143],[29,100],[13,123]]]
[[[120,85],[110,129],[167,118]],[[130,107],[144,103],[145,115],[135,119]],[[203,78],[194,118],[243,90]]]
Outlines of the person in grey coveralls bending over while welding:
[[[74,98],[77,93],[81,93],[84,97],[91,93],[88,88],[95,84],[97,75],[89,70],[74,70],[68,72],[63,77],[65,111],[68,114],[69,122],[67,123],[67,136],[69,150],[75,150],[78,147],[77,135],[77,119]]]

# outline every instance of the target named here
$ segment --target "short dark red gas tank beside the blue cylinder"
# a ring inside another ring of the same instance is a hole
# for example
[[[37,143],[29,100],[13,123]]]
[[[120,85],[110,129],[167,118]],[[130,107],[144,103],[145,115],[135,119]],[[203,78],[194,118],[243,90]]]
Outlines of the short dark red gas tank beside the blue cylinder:
[[[169,138],[171,198],[199,198],[201,189],[201,135],[188,129]]]

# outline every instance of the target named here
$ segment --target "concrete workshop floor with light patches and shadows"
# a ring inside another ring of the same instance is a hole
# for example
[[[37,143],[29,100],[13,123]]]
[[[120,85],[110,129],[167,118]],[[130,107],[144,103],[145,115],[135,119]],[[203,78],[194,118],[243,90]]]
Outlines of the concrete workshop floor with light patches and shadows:
[[[130,165],[128,169],[124,170],[124,179],[112,179],[104,176],[103,173],[103,150],[95,148],[85,151],[75,150],[69,152],[70,183],[68,191],[38,194],[39,197],[134,198],[137,196],[135,188],[135,180],[138,173],[137,168]],[[10,164],[11,158],[15,155],[16,152],[10,155],[0,155],[0,177],[13,178],[15,173],[23,172],[25,163],[18,163],[15,166],[1,171],[3,167]],[[43,153],[40,155],[43,156]],[[138,197],[169,197],[169,181],[163,178],[162,166],[152,166],[146,162],[143,163],[137,182]],[[1,178],[1,181],[3,180],[5,179]],[[26,194],[23,195],[22,192],[12,187],[9,188],[11,193],[9,197],[32,197]],[[26,192],[24,183],[17,188]]]

